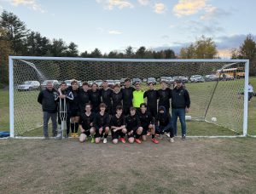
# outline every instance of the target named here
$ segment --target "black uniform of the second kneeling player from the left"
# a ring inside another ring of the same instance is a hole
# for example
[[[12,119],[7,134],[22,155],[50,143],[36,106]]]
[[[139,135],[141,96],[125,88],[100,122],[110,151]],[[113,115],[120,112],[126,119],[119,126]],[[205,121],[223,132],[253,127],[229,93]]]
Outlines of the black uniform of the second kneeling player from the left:
[[[109,115],[107,112],[104,112],[104,115],[101,115],[100,112],[96,113],[96,117],[93,121],[93,126],[96,128],[96,138],[102,137],[102,134],[105,132],[105,128],[109,127]],[[103,128],[102,134],[99,133],[99,129]],[[108,134],[104,135],[104,138],[107,138]]]

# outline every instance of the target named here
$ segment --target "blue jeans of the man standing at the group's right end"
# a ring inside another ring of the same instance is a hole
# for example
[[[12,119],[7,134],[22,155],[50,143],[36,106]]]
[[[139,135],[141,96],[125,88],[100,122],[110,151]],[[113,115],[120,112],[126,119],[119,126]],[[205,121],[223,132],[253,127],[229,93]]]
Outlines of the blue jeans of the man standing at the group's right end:
[[[179,117],[179,121],[182,126],[182,135],[186,135],[187,127],[186,127],[186,110],[184,108],[172,108],[172,123],[174,129],[174,135],[177,136],[177,117]]]

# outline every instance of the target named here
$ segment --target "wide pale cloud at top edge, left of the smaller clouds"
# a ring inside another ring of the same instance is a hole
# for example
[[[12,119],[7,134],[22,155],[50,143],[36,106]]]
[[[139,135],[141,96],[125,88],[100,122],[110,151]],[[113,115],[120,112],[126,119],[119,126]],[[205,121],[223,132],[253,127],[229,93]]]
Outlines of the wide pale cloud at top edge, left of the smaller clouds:
[[[134,7],[128,0],[96,0],[96,3],[104,4],[105,9],[109,10],[112,10],[114,7],[119,9]]]

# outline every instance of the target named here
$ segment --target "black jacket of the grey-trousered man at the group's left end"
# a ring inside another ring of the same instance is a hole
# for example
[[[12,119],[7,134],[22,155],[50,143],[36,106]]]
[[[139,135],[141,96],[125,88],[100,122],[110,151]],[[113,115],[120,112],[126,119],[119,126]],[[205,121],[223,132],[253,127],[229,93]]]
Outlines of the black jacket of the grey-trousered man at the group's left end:
[[[44,89],[38,94],[38,102],[42,105],[43,111],[55,113],[57,111],[58,94],[55,89],[49,91]]]

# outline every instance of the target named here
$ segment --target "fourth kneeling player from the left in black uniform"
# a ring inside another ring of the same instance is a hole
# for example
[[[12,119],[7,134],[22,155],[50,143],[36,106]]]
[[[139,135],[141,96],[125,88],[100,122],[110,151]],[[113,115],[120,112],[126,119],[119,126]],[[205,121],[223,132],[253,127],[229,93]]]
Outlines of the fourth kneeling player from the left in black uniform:
[[[141,134],[143,133],[143,128],[141,127],[141,122],[139,117],[136,114],[136,108],[132,107],[130,108],[130,115],[126,117],[126,128],[127,128],[127,138],[129,143],[135,142],[138,144],[141,144],[142,141],[139,140]]]

